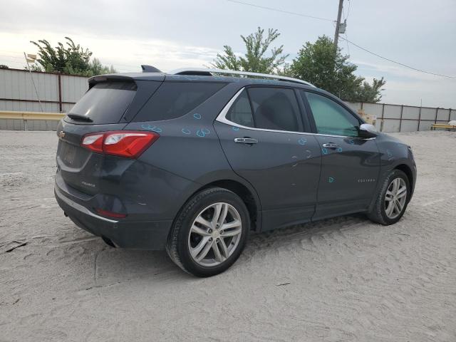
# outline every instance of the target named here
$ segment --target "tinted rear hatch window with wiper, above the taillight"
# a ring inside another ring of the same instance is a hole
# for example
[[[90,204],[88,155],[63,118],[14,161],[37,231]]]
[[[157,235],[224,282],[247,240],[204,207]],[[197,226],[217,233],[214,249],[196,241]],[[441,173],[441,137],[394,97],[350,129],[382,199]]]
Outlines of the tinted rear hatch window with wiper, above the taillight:
[[[134,82],[97,83],[71,108],[68,116],[75,123],[118,123],[132,103],[136,90]]]

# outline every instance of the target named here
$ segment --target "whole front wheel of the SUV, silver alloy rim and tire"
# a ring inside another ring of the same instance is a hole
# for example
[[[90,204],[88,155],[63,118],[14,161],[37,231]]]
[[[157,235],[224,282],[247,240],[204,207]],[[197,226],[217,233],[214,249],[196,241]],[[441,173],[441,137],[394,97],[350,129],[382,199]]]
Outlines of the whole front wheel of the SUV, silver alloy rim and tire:
[[[403,216],[409,198],[410,183],[407,175],[403,171],[393,170],[383,182],[368,217],[385,226],[395,224]]]

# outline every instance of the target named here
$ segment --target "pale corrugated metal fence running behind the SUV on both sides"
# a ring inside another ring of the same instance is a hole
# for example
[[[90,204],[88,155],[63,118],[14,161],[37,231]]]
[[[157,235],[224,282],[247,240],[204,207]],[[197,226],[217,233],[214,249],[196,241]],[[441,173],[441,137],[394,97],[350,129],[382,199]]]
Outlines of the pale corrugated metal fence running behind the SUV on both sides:
[[[40,103],[33,88],[32,77]],[[0,69],[0,110],[60,112],[73,107],[88,89],[87,78],[58,73],[30,73],[17,69]],[[353,110],[363,109],[377,117],[376,126],[383,132],[413,132],[430,130],[432,123],[456,120],[456,110],[445,108],[390,105],[385,103],[347,103]],[[31,122],[27,126],[18,120],[0,120],[0,129],[55,129],[56,123]]]

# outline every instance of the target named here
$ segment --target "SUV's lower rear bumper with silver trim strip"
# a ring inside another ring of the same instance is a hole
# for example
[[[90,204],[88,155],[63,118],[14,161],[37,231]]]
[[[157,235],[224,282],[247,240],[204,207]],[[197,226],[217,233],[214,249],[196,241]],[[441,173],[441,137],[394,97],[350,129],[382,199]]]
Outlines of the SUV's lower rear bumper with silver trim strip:
[[[115,220],[101,217],[78,204],[56,184],[54,187],[58,205],[68,217],[82,229],[98,237],[107,237],[116,246],[131,249],[165,249],[172,221]]]

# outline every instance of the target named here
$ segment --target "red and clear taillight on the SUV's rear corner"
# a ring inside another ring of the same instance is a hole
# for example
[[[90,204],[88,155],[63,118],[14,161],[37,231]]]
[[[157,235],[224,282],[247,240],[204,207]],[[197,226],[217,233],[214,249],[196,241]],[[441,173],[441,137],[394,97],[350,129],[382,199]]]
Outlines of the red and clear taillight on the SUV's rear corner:
[[[138,158],[158,138],[155,132],[118,130],[84,135],[81,146],[105,155]]]

